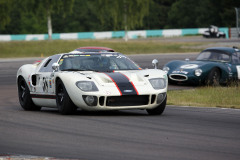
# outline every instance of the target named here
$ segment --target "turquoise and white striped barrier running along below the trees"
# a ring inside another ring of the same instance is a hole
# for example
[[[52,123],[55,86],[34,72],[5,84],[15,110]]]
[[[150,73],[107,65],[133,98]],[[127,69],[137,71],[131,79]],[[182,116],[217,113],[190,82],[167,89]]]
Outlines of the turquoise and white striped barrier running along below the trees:
[[[188,28],[188,29],[159,29],[159,30],[137,30],[128,31],[129,39],[147,38],[147,37],[174,37],[186,35],[202,34],[208,28]],[[228,28],[219,28],[229,38]],[[125,31],[107,31],[107,32],[78,32],[78,33],[53,33],[52,39],[112,39],[124,38]],[[16,35],[0,35],[0,41],[32,41],[47,40],[48,34],[16,34]]]

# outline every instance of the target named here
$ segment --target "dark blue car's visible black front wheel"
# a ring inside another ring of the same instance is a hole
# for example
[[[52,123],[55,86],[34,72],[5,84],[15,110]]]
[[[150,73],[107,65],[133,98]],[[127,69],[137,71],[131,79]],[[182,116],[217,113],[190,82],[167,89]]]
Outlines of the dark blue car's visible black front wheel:
[[[206,85],[219,86],[220,85],[220,70],[213,68],[206,78]]]

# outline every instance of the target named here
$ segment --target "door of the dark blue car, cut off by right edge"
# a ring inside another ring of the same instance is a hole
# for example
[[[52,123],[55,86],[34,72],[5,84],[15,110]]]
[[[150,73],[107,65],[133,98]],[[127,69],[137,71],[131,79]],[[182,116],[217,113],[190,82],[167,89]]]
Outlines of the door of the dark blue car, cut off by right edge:
[[[231,65],[233,78],[240,80],[240,52],[232,54],[232,65]]]

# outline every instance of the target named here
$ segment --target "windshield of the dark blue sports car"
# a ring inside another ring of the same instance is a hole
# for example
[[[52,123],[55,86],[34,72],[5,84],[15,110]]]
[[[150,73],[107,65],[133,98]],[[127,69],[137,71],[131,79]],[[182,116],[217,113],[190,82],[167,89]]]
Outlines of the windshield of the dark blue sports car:
[[[196,59],[197,61],[220,61],[229,62],[230,56],[223,52],[204,51],[200,53]]]

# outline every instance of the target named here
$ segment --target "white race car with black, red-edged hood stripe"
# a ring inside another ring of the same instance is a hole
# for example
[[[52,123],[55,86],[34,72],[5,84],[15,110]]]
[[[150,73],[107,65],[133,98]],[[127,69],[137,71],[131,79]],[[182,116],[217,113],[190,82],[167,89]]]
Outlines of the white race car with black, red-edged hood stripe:
[[[19,102],[25,110],[56,107],[72,114],[87,111],[146,109],[163,113],[167,101],[167,75],[141,69],[117,52],[56,54],[40,63],[26,64],[17,72]]]

